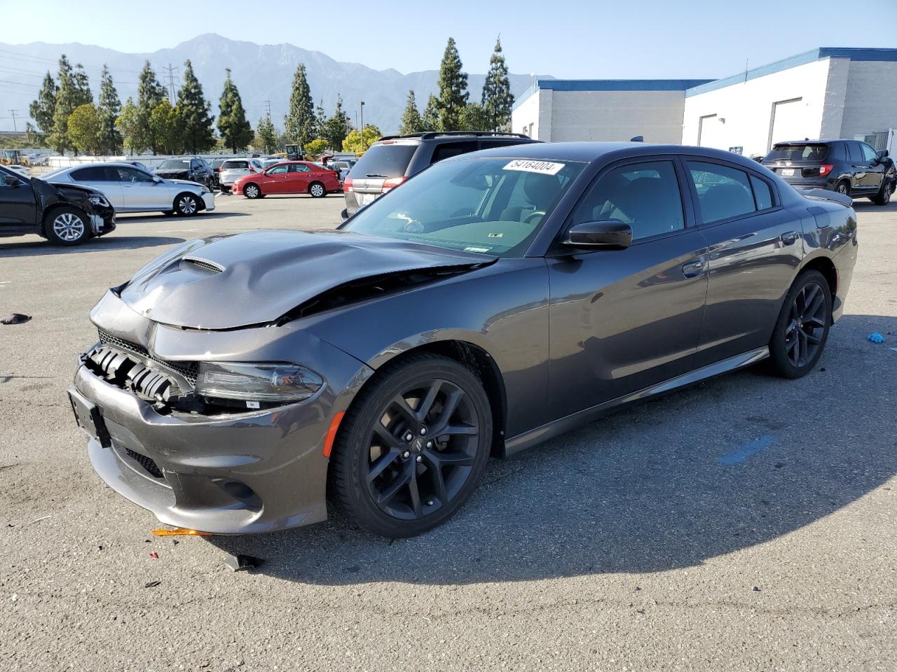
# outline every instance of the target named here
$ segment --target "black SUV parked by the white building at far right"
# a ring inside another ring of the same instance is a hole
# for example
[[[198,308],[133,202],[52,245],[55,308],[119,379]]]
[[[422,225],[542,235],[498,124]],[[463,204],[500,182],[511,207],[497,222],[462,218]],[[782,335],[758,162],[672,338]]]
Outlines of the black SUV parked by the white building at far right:
[[[887,151],[858,140],[776,142],[762,164],[798,189],[823,188],[878,205],[891,200],[897,175]]]

